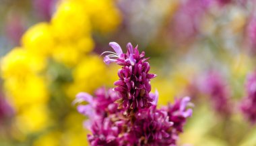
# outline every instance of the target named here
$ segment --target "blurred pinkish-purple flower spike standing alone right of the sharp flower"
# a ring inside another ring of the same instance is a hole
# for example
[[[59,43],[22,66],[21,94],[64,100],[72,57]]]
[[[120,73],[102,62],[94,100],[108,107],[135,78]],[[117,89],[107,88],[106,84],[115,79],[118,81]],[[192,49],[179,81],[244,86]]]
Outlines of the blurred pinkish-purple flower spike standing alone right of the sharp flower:
[[[222,115],[231,113],[229,94],[224,79],[217,72],[208,72],[202,84],[203,92],[210,95],[215,110]]]

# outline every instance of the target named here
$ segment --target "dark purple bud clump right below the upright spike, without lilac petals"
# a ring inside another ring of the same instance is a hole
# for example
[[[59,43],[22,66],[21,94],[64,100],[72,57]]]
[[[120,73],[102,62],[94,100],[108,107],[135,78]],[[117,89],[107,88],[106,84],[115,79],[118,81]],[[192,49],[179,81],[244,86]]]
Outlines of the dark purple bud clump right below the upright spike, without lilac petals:
[[[156,106],[144,108],[135,115],[132,135],[137,145],[174,145],[177,135],[172,133],[173,123],[168,113],[156,109]]]

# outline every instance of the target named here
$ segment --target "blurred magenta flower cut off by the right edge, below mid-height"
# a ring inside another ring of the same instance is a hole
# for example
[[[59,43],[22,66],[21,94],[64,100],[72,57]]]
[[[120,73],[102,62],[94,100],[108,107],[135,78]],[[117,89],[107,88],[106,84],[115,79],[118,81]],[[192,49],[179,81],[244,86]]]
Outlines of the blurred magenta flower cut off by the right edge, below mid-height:
[[[246,89],[247,96],[242,101],[241,111],[254,124],[256,123],[256,72],[247,76]]]

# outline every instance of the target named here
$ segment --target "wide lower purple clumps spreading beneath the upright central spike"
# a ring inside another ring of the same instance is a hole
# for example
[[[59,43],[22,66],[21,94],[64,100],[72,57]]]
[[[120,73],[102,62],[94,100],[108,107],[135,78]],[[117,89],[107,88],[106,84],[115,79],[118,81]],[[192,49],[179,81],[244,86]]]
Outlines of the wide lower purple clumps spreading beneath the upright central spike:
[[[117,106],[110,110],[115,100],[115,92],[105,88],[98,89],[94,98],[84,92],[77,94],[75,102],[89,103],[77,106],[77,110],[89,117],[90,145],[176,145],[187,117],[192,114],[187,109],[189,97],[175,100],[173,105],[160,110],[156,105],[141,108],[130,117],[123,115],[125,109]]]

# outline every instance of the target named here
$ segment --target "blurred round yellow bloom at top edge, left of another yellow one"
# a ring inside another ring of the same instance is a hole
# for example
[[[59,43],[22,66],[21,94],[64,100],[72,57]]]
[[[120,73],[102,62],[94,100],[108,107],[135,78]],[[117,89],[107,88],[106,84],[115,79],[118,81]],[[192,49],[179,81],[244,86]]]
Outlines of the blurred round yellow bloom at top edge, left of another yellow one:
[[[84,7],[75,1],[63,1],[51,20],[57,40],[71,41],[90,35],[90,21]]]

